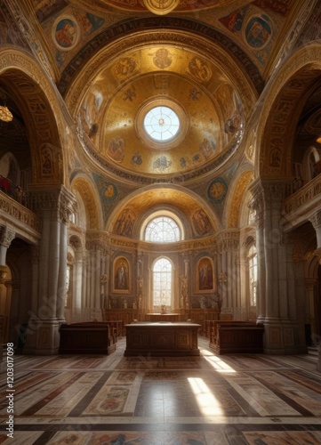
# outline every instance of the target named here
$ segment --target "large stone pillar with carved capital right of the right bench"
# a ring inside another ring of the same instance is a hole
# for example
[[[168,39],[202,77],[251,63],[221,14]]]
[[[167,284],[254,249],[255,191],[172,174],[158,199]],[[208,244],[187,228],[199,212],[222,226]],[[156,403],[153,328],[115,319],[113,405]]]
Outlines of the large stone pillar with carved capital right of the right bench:
[[[287,239],[279,226],[287,189],[288,184],[281,182],[257,181],[252,186],[254,200],[259,202],[257,207],[261,209],[263,229],[257,234],[260,319],[265,328],[264,351],[272,354],[306,352],[301,336],[297,335],[298,330],[304,327],[299,326],[295,311],[290,317],[290,306],[296,305],[296,297],[290,295],[293,258],[288,255],[291,247],[287,246]]]

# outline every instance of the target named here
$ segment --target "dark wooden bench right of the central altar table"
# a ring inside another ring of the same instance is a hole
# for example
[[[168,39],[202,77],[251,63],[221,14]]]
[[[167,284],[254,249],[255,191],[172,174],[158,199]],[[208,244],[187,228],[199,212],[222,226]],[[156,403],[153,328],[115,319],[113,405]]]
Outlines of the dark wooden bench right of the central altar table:
[[[216,354],[263,353],[264,326],[253,321],[213,322],[210,348]]]

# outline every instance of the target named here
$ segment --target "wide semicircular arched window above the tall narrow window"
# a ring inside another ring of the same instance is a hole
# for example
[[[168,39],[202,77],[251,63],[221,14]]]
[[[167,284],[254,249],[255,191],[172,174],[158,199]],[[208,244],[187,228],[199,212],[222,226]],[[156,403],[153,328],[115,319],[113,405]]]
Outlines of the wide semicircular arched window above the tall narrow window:
[[[157,216],[147,224],[144,239],[153,243],[180,241],[181,230],[173,218]]]

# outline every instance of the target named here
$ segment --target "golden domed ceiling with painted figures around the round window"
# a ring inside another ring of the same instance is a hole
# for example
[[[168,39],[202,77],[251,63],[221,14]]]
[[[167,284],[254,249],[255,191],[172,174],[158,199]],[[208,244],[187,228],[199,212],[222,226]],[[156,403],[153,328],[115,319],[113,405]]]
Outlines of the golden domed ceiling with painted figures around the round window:
[[[148,110],[172,109],[178,133],[150,138]],[[169,45],[124,53],[101,70],[84,94],[78,122],[87,143],[106,161],[136,174],[186,173],[240,142],[244,112],[229,79],[213,62]]]

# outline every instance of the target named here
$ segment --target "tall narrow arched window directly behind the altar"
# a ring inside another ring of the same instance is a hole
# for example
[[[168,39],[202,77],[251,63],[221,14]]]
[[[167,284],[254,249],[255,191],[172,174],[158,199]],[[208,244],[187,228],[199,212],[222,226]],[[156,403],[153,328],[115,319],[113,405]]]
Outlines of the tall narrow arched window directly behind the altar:
[[[167,258],[159,258],[153,267],[153,303],[154,309],[163,304],[172,306],[172,263]]]

